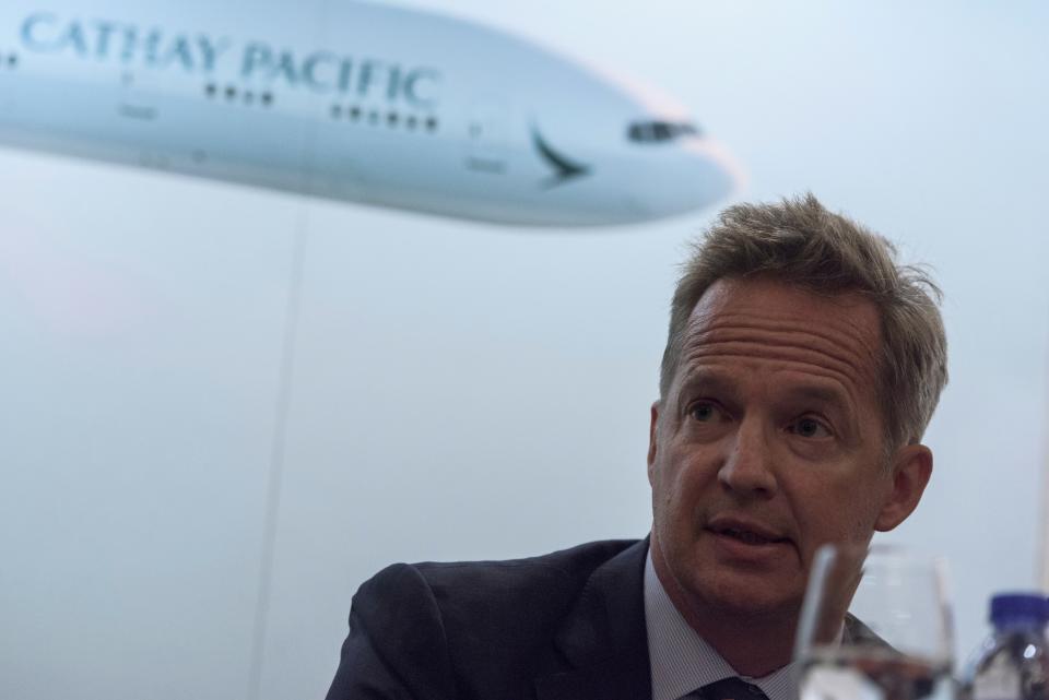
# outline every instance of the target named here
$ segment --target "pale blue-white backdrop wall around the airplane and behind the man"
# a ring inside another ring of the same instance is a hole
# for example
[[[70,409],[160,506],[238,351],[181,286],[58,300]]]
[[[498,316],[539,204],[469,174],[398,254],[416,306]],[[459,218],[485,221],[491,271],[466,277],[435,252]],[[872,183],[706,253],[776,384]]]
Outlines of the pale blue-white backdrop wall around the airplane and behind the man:
[[[887,538],[948,557],[975,645],[992,591],[1038,583],[1047,10],[425,7],[659,85],[741,198],[811,189],[933,264],[952,381]],[[322,697],[386,563],[646,533],[674,265],[710,212],[529,233],[9,150],[0,191],[0,696]]]

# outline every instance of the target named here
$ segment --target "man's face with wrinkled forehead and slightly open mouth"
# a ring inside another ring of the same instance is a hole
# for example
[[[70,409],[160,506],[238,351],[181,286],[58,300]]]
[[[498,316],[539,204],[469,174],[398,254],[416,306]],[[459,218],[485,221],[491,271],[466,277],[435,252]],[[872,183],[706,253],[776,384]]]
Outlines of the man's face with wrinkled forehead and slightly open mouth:
[[[884,462],[880,342],[877,310],[858,296],[768,280],[707,290],[652,407],[664,586],[662,573],[694,609],[793,615],[821,544],[865,544],[906,518],[917,498],[900,507],[910,495]]]

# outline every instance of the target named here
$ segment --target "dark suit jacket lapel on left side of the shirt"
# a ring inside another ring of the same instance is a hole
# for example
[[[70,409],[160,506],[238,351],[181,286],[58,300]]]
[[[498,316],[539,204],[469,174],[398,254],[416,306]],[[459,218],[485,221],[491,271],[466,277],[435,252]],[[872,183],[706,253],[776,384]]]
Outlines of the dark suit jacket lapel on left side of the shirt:
[[[594,570],[556,638],[569,669],[535,679],[539,700],[651,700],[644,576],[648,541]]]

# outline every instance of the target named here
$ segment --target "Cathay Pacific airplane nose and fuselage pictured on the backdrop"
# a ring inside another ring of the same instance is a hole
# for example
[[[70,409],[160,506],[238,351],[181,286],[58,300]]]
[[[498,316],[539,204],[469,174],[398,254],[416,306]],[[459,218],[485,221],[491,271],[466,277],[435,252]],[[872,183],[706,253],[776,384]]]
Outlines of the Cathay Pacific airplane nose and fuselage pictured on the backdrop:
[[[650,90],[503,31],[306,0],[3,0],[0,144],[459,218],[590,226],[726,197]]]

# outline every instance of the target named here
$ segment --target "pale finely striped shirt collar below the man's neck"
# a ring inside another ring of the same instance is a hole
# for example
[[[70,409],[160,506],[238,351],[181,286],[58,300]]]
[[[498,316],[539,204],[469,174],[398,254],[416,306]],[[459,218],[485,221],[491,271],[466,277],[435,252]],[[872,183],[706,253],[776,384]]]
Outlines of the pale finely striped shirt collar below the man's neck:
[[[754,684],[769,700],[797,698],[791,664],[761,678],[738,674],[685,621],[656,574],[651,547],[645,562],[645,626],[652,669],[652,700],[677,700],[702,686],[729,677]]]

